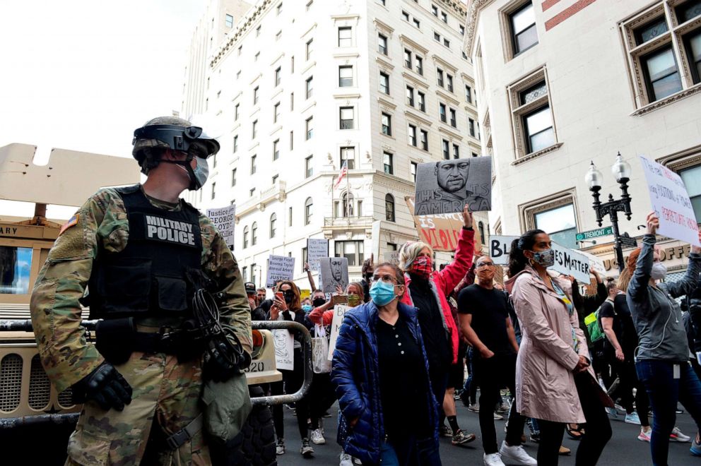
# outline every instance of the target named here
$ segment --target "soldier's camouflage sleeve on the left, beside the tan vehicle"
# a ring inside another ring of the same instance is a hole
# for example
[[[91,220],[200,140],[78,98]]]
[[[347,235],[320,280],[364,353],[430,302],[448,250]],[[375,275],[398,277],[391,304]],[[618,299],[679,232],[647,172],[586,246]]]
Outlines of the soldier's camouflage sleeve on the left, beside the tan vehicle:
[[[86,341],[81,305],[93,258],[98,252],[98,227],[112,196],[98,191],[71,219],[74,225],[59,234],[40,270],[30,300],[34,333],[42,365],[57,390],[72,386],[102,364],[103,358]],[[121,199],[120,199],[121,201]]]

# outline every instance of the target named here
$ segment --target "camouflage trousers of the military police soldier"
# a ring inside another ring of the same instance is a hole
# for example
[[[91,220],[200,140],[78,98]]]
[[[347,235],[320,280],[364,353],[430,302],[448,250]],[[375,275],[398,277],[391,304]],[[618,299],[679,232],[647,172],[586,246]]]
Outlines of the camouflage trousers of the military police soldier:
[[[177,450],[163,443],[201,412],[201,361],[178,364],[175,356],[134,352],[116,367],[134,390],[131,405],[122,412],[83,405],[66,465],[210,465],[201,431]],[[153,433],[158,439],[149,442]]]

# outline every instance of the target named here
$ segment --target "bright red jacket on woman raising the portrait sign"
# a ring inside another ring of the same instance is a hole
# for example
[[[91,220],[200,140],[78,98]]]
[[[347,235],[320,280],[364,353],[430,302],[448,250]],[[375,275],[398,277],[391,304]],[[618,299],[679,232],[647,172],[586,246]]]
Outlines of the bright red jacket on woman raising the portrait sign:
[[[475,253],[475,232],[471,229],[461,229],[458,246],[455,249],[455,258],[451,263],[445,266],[443,270],[435,271],[431,274],[430,282],[432,289],[437,292],[437,299],[440,302],[440,309],[443,311],[443,327],[446,329],[451,346],[453,349],[453,364],[458,362],[458,342],[460,341],[460,333],[457,325],[450,313],[447,296],[458,285],[460,280],[465,277],[465,274],[472,266],[473,256]],[[406,282],[406,293],[401,298],[401,302],[413,306],[411,294],[409,292],[409,284],[411,276],[408,273],[404,274]]]

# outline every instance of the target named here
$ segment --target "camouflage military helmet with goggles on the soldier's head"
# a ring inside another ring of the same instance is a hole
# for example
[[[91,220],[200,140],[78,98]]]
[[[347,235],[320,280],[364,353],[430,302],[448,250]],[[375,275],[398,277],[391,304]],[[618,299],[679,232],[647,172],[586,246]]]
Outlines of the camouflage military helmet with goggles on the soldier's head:
[[[146,154],[144,148],[164,148],[188,152],[192,143],[202,148],[199,157],[209,157],[219,152],[216,139],[207,136],[199,126],[192,126],[187,120],[176,117],[158,117],[146,121],[141,128],[134,130],[134,149],[131,155],[139,165],[143,163]]]

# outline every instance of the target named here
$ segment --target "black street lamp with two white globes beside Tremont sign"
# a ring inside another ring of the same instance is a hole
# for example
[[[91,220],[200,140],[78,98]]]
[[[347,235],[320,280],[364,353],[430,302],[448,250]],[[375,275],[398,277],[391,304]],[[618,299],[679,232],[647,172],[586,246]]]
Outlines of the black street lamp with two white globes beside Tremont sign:
[[[621,236],[628,237],[628,234],[621,235],[618,231],[618,212],[625,213],[625,217],[630,220],[632,212],[630,211],[630,194],[628,194],[628,181],[630,181],[630,165],[625,162],[620,156],[620,152],[616,157],[615,163],[611,167],[611,172],[615,177],[615,181],[620,184],[620,191],[623,193],[620,199],[614,199],[611,194],[608,195],[608,201],[602,203],[599,200],[599,191],[601,191],[601,181],[603,180],[603,175],[594,166],[594,162],[591,162],[591,167],[589,167],[589,172],[584,177],[584,181],[587,182],[589,186],[589,191],[591,191],[591,196],[594,197],[594,212],[596,212],[596,222],[599,223],[601,227],[601,222],[603,217],[606,215],[611,217],[611,227],[613,228],[613,249],[615,250],[615,259],[618,262],[618,273],[623,272],[623,247],[621,244]]]

